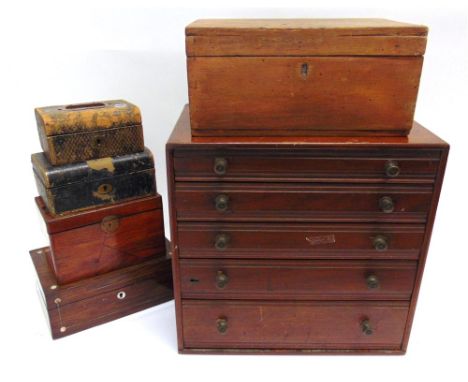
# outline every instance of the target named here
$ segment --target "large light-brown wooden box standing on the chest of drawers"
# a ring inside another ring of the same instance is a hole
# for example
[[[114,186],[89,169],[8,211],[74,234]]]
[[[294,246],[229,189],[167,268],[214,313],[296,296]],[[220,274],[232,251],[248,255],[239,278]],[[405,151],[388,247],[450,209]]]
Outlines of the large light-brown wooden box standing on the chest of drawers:
[[[407,135],[426,36],[383,19],[195,21],[192,135]]]

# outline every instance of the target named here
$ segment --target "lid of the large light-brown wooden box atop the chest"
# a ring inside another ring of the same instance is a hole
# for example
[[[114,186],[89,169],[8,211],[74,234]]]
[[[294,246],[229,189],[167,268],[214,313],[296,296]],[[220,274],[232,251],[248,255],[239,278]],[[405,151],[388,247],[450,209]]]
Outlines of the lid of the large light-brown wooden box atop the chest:
[[[386,19],[205,19],[187,56],[421,56],[427,27]]]

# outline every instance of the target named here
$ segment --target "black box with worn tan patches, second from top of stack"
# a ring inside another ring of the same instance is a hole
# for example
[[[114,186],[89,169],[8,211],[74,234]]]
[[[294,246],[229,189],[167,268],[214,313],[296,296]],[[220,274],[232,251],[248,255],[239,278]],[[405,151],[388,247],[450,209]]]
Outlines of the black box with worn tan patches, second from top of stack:
[[[153,155],[141,153],[52,166],[44,153],[31,155],[39,195],[52,215],[153,195]]]

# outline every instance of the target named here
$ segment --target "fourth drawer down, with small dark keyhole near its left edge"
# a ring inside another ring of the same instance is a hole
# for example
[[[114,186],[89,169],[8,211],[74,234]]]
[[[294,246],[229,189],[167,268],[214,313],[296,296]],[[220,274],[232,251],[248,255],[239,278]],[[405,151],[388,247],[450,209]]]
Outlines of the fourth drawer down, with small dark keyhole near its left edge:
[[[181,260],[182,298],[409,300],[416,261]]]

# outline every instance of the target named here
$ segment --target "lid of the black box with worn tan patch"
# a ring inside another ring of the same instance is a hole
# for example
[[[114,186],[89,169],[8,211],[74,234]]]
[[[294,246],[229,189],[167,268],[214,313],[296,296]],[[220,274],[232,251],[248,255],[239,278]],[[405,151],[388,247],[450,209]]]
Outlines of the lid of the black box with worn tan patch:
[[[36,153],[31,155],[31,162],[34,172],[46,188],[98,181],[154,168],[153,155],[148,148],[145,148],[141,153],[100,158],[63,166],[52,166],[44,153]]]

